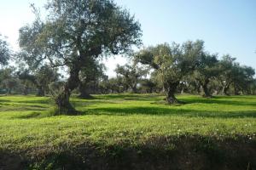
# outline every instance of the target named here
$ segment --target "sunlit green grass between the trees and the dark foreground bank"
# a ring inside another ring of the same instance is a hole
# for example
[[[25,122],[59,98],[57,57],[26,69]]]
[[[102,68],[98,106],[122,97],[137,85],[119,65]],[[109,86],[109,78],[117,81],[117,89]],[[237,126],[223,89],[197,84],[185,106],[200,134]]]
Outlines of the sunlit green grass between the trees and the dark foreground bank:
[[[79,116],[50,116],[47,97],[0,97],[0,149],[55,150],[61,145],[142,144],[154,137],[194,136],[255,139],[256,97],[179,95],[185,105],[160,105],[156,94],[73,98]]]

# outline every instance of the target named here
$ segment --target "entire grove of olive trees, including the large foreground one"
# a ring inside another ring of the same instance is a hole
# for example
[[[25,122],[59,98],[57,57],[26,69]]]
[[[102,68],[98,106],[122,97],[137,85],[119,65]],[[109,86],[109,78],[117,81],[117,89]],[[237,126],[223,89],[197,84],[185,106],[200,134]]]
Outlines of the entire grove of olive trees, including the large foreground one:
[[[219,60],[200,40],[131,53],[133,45],[141,45],[140,24],[112,0],[50,0],[45,7],[43,20],[32,6],[36,20],[20,28],[20,51],[12,55],[19,69],[3,67],[0,83],[13,79],[25,89],[36,88],[38,95],[52,94],[61,114],[76,113],[69,102],[76,90],[83,98],[95,93],[163,92],[168,103],[178,102],[176,93],[202,92],[208,98],[213,93],[255,93],[253,68],[229,55]],[[0,64],[7,65],[11,52],[3,38],[0,50]],[[100,60],[112,54],[129,54],[132,62],[118,65],[117,77],[108,79]],[[66,71],[67,77],[58,71]]]

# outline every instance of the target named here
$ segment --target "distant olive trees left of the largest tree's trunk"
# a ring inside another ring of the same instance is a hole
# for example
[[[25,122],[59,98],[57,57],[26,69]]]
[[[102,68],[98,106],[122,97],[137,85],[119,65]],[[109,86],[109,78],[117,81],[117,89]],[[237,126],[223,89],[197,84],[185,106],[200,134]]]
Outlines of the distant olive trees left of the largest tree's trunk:
[[[13,66],[0,69],[1,94],[31,94],[38,96],[49,94],[49,85],[58,81],[57,71],[44,65],[36,71],[22,71]]]

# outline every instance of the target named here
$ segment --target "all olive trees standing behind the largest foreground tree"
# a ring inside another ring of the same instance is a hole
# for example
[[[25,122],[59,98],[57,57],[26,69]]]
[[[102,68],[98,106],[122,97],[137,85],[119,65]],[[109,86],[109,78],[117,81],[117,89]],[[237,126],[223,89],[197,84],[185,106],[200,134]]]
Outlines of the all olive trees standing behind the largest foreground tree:
[[[140,93],[166,94],[169,102],[177,102],[174,94],[212,95],[256,94],[255,71],[240,65],[235,58],[208,54],[202,41],[172,43],[143,48],[132,55],[131,65],[117,65],[116,77],[105,75],[106,66],[91,61],[79,73],[79,86],[75,94],[84,99],[90,94]],[[28,65],[19,68],[7,66],[9,52],[0,70],[2,94],[50,94],[53,82],[63,82],[57,69],[41,65],[32,69]],[[2,58],[3,59],[3,58]],[[21,61],[19,61],[21,63]]]

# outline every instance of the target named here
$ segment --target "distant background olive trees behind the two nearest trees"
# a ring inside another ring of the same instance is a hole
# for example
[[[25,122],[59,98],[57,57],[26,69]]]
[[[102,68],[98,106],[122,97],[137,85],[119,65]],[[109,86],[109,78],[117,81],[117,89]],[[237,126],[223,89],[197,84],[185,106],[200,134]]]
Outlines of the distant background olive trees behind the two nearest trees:
[[[178,83],[176,93],[202,94],[204,97],[256,93],[253,68],[239,65],[230,55],[224,55],[220,60],[217,55],[212,55],[201,62],[205,64],[195,68]],[[137,62],[117,65],[117,77],[108,79],[104,74],[105,65],[97,61],[80,72],[79,88],[75,93],[84,99],[91,98],[90,94],[163,93],[165,88],[161,77],[152,68]],[[9,66],[0,70],[0,80],[0,88],[5,89],[5,93],[29,94],[37,91],[38,96],[44,96],[50,94],[49,87],[53,82],[63,82],[64,78],[49,65],[34,71]]]

